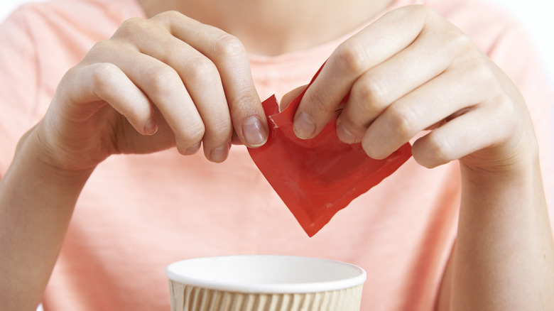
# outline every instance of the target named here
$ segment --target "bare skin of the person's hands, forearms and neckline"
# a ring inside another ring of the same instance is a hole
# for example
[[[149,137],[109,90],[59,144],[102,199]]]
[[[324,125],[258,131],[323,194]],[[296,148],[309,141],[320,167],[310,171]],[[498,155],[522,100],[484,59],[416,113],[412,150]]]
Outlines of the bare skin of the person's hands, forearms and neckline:
[[[102,160],[203,146],[221,162],[231,141],[261,146],[267,125],[246,51],[317,45],[389,2],[141,1],[151,18],[126,21],[66,73],[0,181],[4,310],[36,309],[75,201]],[[300,21],[304,33],[295,31]],[[537,141],[504,72],[437,13],[408,6],[335,50],[300,103],[297,135],[315,136],[348,92],[337,119],[342,141],[385,158],[428,129],[413,143],[415,160],[427,168],[460,162],[460,222],[438,310],[553,310],[554,246]]]

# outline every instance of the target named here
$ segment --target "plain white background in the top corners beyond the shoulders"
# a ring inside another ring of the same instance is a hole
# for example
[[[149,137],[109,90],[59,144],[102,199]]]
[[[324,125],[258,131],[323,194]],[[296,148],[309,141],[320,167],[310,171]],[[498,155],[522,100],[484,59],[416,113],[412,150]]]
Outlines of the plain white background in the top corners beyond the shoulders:
[[[0,0],[0,20],[16,6],[28,1],[31,0]],[[500,6],[504,6],[522,21],[535,39],[539,52],[550,73],[550,78],[554,82],[554,3],[550,0],[482,1],[492,1]]]

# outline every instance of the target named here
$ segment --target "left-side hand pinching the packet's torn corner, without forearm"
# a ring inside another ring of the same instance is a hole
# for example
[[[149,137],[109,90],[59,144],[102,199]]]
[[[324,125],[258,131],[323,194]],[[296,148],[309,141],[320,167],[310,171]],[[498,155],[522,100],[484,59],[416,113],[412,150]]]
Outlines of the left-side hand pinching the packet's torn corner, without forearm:
[[[240,41],[177,12],[131,18],[70,69],[36,126],[50,164],[94,168],[114,153],[227,158],[233,133],[267,139],[264,110]]]

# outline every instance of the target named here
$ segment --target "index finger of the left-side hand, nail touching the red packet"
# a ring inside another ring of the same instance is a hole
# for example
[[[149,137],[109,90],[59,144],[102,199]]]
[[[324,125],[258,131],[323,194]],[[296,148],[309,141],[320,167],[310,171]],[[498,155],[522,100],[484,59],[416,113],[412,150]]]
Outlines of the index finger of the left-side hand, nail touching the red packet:
[[[217,67],[234,130],[241,141],[249,147],[263,145],[268,136],[267,121],[242,43],[224,31],[178,13],[160,18],[170,26],[175,37],[210,58]]]

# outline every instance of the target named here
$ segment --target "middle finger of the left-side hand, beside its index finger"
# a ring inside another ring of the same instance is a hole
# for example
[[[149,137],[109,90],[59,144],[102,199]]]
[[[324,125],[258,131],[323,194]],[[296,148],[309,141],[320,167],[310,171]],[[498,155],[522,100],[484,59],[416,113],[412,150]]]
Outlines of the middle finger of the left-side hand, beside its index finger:
[[[214,162],[222,162],[229,153],[233,128],[217,67],[160,24],[141,19],[131,21],[134,24],[127,27],[133,29],[152,24],[147,31],[129,33],[125,39],[134,42],[141,53],[163,61],[178,73],[205,126],[202,137],[205,156]]]

